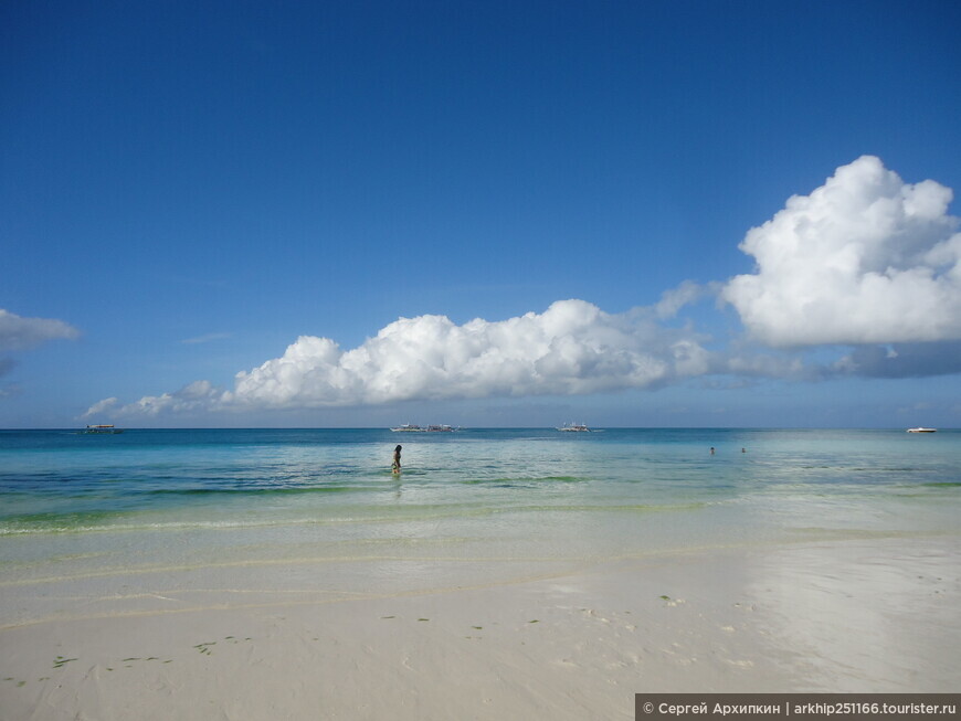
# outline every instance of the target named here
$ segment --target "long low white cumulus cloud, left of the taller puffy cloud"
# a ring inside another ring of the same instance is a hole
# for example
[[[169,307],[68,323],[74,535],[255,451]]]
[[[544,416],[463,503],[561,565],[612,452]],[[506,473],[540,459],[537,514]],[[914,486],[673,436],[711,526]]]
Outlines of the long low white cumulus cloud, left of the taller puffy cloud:
[[[237,373],[232,390],[198,381],[145,396],[122,414],[295,409],[406,400],[573,395],[644,388],[707,372],[689,330],[659,327],[644,309],[611,315],[584,300],[545,312],[462,326],[446,316],[401,318],[358,348],[302,336],[286,352]],[[95,410],[112,404],[96,404]]]

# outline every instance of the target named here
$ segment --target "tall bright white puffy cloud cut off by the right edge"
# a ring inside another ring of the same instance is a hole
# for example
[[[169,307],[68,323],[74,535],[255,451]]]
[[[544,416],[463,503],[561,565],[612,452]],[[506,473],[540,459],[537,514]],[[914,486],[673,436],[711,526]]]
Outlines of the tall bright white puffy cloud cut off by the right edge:
[[[774,347],[961,339],[951,199],[862,157],[748,232],[740,247],[757,273],[732,278],[722,297]]]

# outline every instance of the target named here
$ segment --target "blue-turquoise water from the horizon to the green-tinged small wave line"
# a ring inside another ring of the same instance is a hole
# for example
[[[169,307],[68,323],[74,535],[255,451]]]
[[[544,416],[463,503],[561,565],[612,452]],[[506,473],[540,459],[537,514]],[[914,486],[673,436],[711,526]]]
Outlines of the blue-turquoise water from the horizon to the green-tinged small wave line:
[[[914,515],[961,498],[961,433],[7,431],[0,494],[0,536],[752,501],[772,512],[813,502]]]

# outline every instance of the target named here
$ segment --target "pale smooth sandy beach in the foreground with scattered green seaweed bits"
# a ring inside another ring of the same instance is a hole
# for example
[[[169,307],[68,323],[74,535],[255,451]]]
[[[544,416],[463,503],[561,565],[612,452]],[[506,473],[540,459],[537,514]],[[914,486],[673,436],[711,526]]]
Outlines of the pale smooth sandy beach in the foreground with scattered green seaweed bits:
[[[864,538],[383,594],[278,591],[258,565],[215,587],[9,585],[0,719],[631,719],[635,692],[958,691],[959,559],[955,537]]]

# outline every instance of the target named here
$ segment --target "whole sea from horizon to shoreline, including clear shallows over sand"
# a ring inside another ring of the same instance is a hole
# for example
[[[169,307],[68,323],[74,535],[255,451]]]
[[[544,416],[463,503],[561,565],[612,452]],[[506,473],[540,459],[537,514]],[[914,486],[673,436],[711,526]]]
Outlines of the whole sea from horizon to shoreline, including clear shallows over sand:
[[[52,583],[103,597],[140,579],[130,595],[175,571],[198,593],[239,565],[261,587],[403,593],[685,550],[957,537],[961,432],[3,431],[0,495],[0,585],[19,590],[0,611],[22,622],[55,612]],[[298,571],[318,562],[323,577]]]

